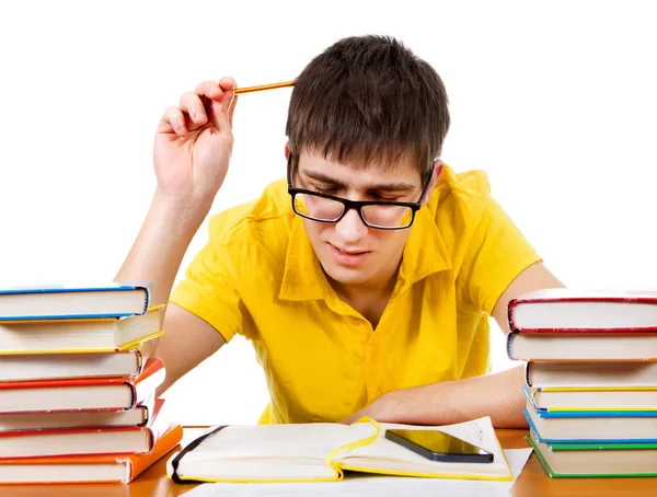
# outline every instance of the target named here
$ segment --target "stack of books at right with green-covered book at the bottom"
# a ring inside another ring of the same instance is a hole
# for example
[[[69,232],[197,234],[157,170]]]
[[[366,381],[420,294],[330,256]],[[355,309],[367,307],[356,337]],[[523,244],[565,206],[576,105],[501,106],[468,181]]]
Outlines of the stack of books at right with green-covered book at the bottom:
[[[509,303],[509,325],[548,474],[657,476],[657,292],[532,292]]]

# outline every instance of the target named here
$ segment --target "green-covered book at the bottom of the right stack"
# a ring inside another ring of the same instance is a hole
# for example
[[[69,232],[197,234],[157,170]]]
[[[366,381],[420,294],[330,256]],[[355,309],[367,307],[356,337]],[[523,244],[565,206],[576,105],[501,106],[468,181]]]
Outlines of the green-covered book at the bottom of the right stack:
[[[544,443],[527,441],[551,478],[657,476],[657,443]]]

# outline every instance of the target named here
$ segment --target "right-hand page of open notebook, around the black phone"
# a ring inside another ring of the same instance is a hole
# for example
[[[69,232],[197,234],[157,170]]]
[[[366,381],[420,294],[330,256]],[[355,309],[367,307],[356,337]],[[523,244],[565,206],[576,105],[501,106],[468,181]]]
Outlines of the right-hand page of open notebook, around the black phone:
[[[397,443],[385,439],[387,429],[439,429],[474,446],[492,452],[492,463],[454,463],[430,461]],[[365,447],[343,451],[336,454],[336,460],[345,470],[405,474],[411,476],[440,476],[440,477],[471,477],[471,478],[500,478],[511,477],[511,471],[504,456],[504,452],[491,418],[484,417],[458,425],[442,427],[408,426],[380,424],[377,440]]]

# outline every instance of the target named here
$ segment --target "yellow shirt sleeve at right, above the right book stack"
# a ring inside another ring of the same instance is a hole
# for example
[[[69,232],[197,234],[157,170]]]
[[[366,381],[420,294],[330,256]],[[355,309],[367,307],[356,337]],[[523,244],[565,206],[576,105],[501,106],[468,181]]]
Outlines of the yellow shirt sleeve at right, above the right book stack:
[[[502,206],[486,195],[458,278],[472,303],[491,315],[514,279],[541,261]]]

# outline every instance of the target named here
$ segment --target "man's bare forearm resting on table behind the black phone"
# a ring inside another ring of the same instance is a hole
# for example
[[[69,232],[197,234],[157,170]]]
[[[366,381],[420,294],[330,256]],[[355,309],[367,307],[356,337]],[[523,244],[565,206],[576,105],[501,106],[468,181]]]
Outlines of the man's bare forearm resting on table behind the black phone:
[[[434,383],[391,392],[394,420],[417,425],[450,425],[491,416],[498,428],[526,428],[522,415],[523,367],[483,377]]]

